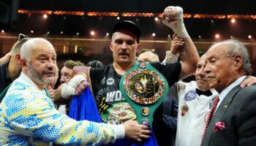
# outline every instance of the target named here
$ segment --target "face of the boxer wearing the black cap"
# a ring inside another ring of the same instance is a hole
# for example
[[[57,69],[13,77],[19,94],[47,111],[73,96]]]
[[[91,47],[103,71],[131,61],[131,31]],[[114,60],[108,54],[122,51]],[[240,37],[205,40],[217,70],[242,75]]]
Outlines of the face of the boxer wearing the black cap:
[[[113,52],[113,60],[119,66],[135,64],[135,55],[140,49],[135,34],[127,30],[116,31],[110,42],[110,50]]]

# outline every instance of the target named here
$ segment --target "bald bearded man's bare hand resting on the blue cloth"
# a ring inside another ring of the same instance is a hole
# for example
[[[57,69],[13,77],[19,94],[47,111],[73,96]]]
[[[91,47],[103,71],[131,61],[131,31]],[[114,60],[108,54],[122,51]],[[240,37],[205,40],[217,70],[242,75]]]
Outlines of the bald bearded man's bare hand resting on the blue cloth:
[[[124,123],[125,137],[142,142],[142,139],[148,139],[151,131],[148,126],[140,125],[136,120],[127,120]]]

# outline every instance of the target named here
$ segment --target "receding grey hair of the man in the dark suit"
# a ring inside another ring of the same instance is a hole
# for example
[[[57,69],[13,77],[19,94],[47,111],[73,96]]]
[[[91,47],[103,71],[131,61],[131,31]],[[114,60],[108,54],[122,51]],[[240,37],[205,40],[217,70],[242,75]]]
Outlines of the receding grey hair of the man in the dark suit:
[[[249,60],[249,53],[246,49],[246,47],[243,45],[243,43],[239,42],[236,39],[227,39],[223,42],[219,43],[227,43],[228,48],[227,48],[227,55],[228,57],[233,57],[235,55],[241,55],[243,58],[243,69],[244,72],[246,72],[246,75],[251,75],[252,74],[252,64],[250,63]],[[218,43],[218,44],[219,44]]]

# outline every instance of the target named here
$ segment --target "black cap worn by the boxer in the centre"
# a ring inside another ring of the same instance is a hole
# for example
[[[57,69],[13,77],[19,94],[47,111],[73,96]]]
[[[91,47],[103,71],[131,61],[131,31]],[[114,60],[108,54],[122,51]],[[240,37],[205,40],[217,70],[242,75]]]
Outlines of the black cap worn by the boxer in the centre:
[[[140,28],[136,25],[136,23],[132,22],[131,20],[122,20],[113,25],[113,33],[122,29],[131,31],[137,37],[137,42],[140,42]]]

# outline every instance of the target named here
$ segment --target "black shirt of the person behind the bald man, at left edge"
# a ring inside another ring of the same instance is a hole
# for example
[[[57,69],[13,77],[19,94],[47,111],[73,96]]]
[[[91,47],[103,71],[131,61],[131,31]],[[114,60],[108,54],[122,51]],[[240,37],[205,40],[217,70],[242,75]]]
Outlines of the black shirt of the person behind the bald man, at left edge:
[[[12,79],[10,78],[7,70],[8,64],[9,63],[0,66],[0,93],[12,83]]]

